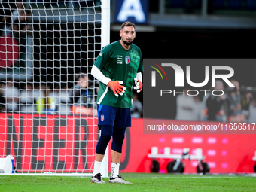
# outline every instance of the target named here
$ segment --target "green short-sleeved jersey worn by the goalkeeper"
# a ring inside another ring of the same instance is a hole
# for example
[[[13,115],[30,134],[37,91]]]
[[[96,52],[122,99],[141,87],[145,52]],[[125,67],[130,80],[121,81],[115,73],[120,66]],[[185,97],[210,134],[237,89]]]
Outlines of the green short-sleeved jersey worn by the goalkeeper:
[[[126,87],[123,96],[117,97],[107,85],[99,82],[97,103],[115,108],[132,108],[134,78],[138,72],[143,72],[139,47],[131,44],[130,49],[125,50],[120,41],[115,41],[102,48],[94,65],[112,81],[123,81]]]

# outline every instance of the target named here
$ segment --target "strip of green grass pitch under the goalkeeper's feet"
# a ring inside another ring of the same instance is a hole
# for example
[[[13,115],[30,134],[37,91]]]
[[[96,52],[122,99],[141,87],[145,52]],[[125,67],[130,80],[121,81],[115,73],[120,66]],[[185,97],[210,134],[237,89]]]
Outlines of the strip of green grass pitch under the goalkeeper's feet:
[[[90,177],[0,175],[1,192],[60,191],[256,191],[256,177],[239,175],[172,175],[123,173],[127,184],[94,184]]]

